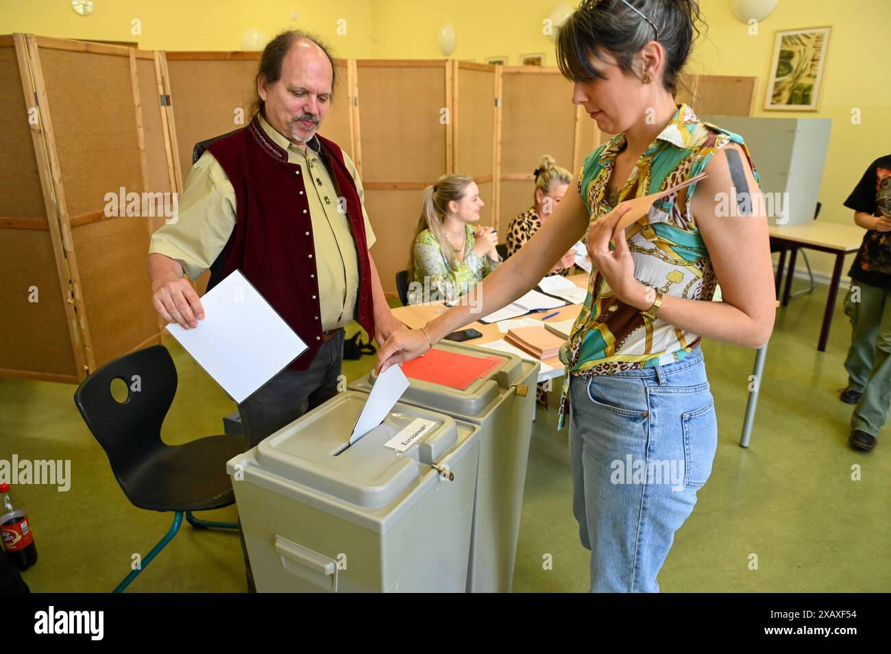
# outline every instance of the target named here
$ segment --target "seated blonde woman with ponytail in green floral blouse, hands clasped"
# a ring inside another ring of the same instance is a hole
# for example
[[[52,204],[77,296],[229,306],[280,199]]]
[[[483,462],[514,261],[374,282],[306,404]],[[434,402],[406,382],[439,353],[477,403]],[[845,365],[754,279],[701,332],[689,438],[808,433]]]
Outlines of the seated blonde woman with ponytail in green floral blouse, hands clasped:
[[[492,227],[473,224],[485,206],[466,175],[446,175],[424,189],[408,269],[414,282],[409,304],[460,298],[502,262]]]

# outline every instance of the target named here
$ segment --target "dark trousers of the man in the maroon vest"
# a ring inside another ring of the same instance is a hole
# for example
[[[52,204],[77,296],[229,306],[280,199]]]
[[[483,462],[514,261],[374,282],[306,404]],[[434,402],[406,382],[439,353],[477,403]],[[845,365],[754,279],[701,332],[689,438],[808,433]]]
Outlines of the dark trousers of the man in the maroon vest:
[[[337,395],[340,364],[343,363],[343,339],[344,331],[340,330],[334,338],[322,346],[307,370],[286,369],[280,372],[269,380],[266,386],[259,388],[238,405],[246,450],[256,447],[267,436]],[[241,528],[239,534],[241,552],[244,553],[248,592],[256,593],[254,576],[250,571],[248,548],[244,544]]]

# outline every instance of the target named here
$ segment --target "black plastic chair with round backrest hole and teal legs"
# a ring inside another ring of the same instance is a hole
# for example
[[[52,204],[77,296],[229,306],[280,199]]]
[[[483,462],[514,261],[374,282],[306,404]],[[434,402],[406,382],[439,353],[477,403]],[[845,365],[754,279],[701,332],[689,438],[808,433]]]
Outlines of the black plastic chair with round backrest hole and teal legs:
[[[111,382],[123,380],[127,399],[111,395]],[[114,589],[121,593],[173,539],[183,514],[194,528],[238,529],[234,522],[213,522],[192,511],[222,509],[235,502],[225,462],[244,452],[237,436],[208,436],[181,446],[161,440],[161,424],[176,395],[176,366],[166,347],[136,350],[103,365],[78,386],[74,404],[108,455],[124,495],[147,511],[174,511],[168,533]]]

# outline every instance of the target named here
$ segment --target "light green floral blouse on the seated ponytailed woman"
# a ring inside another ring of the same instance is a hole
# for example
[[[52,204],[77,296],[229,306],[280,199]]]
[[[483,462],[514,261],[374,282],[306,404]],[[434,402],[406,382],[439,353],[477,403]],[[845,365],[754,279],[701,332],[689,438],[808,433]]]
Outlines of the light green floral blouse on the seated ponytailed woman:
[[[464,233],[467,236],[464,259],[454,270],[433,234],[427,229],[418,234],[414,240],[414,281],[417,283],[409,284],[409,304],[460,298],[502,263],[500,256],[493,261],[486,255],[479,257],[473,251],[477,240],[470,225],[464,225]],[[425,278],[429,280],[426,283]]]

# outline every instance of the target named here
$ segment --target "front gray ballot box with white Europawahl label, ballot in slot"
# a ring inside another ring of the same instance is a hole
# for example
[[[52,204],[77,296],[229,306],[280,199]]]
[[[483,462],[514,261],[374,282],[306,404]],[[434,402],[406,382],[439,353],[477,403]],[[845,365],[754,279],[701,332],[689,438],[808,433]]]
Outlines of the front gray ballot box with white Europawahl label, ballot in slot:
[[[343,449],[367,399],[339,393],[226,463],[258,592],[464,592],[478,425],[397,403]]]

